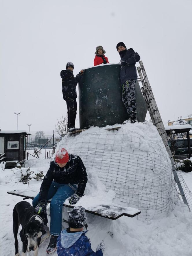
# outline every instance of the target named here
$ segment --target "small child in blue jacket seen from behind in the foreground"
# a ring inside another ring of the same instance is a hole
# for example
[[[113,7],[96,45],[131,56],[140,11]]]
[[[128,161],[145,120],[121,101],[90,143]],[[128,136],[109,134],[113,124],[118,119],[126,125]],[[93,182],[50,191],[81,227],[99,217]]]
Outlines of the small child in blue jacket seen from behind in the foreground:
[[[69,212],[69,228],[63,230],[57,240],[58,256],[102,256],[105,249],[103,241],[98,245],[96,253],[91,249],[91,243],[83,231],[86,224],[85,209],[77,206]]]

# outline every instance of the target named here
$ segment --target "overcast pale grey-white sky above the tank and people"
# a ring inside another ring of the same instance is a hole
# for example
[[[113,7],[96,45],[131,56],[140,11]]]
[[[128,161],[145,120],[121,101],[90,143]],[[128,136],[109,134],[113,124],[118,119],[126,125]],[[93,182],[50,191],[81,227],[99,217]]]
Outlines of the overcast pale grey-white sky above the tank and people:
[[[0,2],[0,129],[21,112],[19,130],[53,130],[67,114],[61,69],[93,66],[97,45],[117,63],[120,41],[141,56],[164,124],[192,113],[192,0]]]

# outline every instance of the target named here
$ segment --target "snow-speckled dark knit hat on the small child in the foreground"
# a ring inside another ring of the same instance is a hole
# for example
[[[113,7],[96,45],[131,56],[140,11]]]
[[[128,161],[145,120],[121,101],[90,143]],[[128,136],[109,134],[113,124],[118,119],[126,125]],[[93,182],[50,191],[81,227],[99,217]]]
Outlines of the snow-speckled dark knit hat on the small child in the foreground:
[[[73,229],[84,227],[86,224],[85,208],[82,206],[74,207],[69,212],[68,222],[69,227]]]

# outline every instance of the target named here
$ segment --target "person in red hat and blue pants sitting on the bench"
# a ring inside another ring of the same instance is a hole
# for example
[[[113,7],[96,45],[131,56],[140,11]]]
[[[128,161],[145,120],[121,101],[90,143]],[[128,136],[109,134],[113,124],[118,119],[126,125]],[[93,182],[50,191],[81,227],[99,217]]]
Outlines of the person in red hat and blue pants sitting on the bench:
[[[33,199],[35,212],[46,211],[47,200],[50,203],[50,233],[51,238],[47,253],[56,251],[57,238],[62,230],[62,205],[69,198],[74,205],[83,196],[87,183],[85,166],[79,156],[69,154],[65,148],[56,152],[55,159],[50,163],[40,187],[39,194]]]

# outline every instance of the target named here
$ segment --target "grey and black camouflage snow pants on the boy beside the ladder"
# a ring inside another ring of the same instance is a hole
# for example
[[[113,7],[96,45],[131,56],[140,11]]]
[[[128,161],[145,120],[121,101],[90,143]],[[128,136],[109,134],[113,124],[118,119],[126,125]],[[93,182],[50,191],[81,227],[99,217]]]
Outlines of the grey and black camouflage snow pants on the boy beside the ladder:
[[[136,98],[135,98],[135,80],[127,80],[122,87],[122,101],[127,109],[131,120],[137,118]]]

